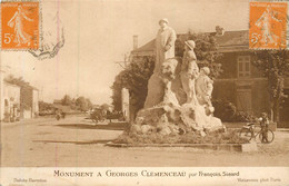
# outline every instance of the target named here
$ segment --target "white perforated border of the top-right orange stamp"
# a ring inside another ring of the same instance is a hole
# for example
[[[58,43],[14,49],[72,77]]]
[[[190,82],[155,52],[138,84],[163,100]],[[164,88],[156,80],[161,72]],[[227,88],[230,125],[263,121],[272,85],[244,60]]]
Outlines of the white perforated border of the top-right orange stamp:
[[[286,25],[286,47],[285,48],[250,48],[250,3],[251,2],[283,2],[287,3],[287,25]],[[249,25],[249,50],[289,50],[289,0],[249,0],[248,2],[248,25]]]

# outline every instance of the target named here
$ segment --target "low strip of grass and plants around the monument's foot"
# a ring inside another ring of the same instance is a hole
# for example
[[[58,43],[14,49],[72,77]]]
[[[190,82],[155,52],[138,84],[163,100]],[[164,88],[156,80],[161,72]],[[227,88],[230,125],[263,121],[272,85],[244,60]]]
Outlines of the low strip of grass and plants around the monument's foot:
[[[247,139],[239,137],[238,130],[229,129],[226,133],[212,131],[202,137],[198,133],[187,133],[185,135],[162,136],[158,133],[140,135],[124,131],[114,140],[116,144],[247,144]]]

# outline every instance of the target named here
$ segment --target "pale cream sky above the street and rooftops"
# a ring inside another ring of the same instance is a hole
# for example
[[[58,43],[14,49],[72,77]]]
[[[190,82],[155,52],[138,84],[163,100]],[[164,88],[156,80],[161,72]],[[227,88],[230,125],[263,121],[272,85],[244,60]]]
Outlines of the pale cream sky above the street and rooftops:
[[[23,77],[40,90],[40,99],[52,102],[66,94],[84,96],[93,104],[111,104],[116,75],[124,53],[157,35],[158,21],[169,19],[177,33],[246,30],[247,0],[56,0],[41,1],[42,29],[57,32],[51,18],[59,11],[64,46],[52,59],[38,60],[27,51],[1,51],[7,74]],[[53,31],[54,30],[54,31]]]

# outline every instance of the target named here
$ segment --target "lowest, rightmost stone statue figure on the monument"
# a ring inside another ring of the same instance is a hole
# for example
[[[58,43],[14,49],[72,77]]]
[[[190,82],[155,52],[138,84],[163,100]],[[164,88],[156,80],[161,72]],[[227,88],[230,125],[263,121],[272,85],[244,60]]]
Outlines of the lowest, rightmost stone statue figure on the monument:
[[[200,75],[196,80],[196,94],[198,102],[205,106],[206,112],[212,114],[213,107],[211,104],[211,94],[213,89],[213,81],[209,78],[210,69],[203,67],[200,69]]]

